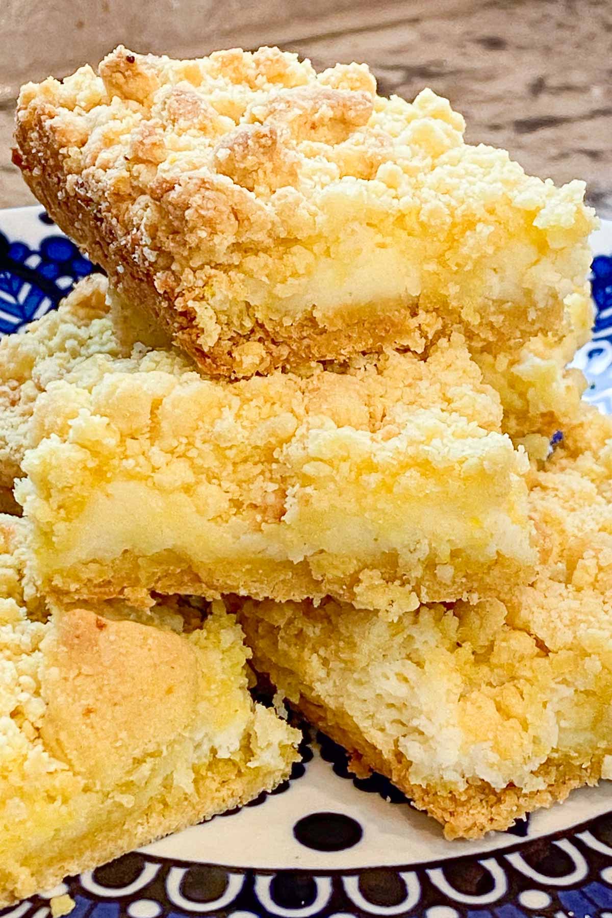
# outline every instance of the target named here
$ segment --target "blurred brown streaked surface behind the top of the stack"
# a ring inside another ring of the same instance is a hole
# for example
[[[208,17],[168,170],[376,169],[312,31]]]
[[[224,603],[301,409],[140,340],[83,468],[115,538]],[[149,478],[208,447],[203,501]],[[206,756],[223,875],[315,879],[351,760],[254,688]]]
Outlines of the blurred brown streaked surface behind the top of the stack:
[[[10,164],[18,85],[118,42],[198,56],[278,44],[317,67],[367,61],[380,91],[424,85],[532,173],[587,182],[612,218],[612,0],[0,0],[0,207],[31,203]]]

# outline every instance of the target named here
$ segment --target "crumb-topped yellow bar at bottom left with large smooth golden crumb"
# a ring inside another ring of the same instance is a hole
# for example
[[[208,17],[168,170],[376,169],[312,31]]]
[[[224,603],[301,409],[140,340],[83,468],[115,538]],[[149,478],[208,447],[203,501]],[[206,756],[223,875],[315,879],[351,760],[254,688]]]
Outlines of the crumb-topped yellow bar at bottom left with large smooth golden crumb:
[[[0,518],[0,907],[273,789],[299,734],[223,603],[34,606]]]

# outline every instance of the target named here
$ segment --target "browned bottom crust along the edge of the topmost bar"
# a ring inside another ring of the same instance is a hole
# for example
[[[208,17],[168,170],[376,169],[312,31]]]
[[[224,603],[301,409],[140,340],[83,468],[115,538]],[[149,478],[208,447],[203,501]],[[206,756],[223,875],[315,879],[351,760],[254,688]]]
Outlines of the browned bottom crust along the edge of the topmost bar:
[[[255,321],[246,334],[222,326],[217,342],[203,348],[195,310],[158,289],[155,273],[138,263],[134,237],[120,227],[106,202],[91,196],[78,176],[71,176],[68,190],[58,139],[44,114],[36,111],[28,120],[17,120],[14,162],[29,188],[58,226],[102,265],[121,295],[138,303],[207,375],[239,378],[391,349],[426,353],[440,337],[442,323],[437,311],[421,309],[418,298],[413,297],[401,306],[386,304],[374,311],[347,305],[339,309],[339,319],[327,326],[319,324],[312,313],[291,325]],[[524,343],[508,340],[507,329],[506,323],[503,335],[499,332],[506,347]],[[529,334],[539,330],[534,327]],[[444,329],[445,334],[450,331]]]

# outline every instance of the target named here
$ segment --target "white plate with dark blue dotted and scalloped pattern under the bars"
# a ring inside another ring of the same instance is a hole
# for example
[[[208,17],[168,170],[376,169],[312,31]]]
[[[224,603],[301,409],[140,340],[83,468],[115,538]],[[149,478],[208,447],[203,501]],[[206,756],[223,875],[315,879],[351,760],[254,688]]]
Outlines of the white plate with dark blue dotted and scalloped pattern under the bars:
[[[589,401],[612,411],[612,223],[593,235],[593,341],[574,364]],[[0,332],[57,306],[93,270],[39,207],[0,212]],[[305,731],[290,781],[0,912],[48,918],[68,891],[72,918],[612,918],[612,782],[574,792],[509,832],[447,842],[379,776]]]

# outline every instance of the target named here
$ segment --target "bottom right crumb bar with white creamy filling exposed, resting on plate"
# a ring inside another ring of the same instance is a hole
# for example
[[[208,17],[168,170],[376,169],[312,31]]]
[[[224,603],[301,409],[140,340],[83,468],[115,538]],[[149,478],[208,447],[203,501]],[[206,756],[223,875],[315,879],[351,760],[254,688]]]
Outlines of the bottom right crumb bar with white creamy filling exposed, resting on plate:
[[[396,621],[332,599],[242,602],[258,671],[449,838],[612,778],[612,439],[599,447],[560,447],[533,473],[538,573],[502,599]]]

